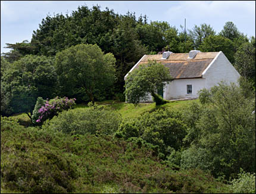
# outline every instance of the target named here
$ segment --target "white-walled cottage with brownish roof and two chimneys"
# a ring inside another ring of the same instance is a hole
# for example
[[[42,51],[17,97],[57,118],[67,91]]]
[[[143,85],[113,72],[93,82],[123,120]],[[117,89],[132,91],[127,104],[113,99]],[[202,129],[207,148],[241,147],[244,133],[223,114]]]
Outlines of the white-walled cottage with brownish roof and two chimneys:
[[[240,77],[223,52],[196,50],[189,53],[175,54],[168,51],[163,55],[144,55],[129,73],[138,68],[140,64],[147,63],[148,60],[161,62],[169,68],[173,81],[164,87],[162,93],[163,98],[167,100],[198,98],[199,90],[210,89],[221,81],[238,83]],[[129,73],[126,74],[124,80]],[[151,95],[146,102],[152,102]]]

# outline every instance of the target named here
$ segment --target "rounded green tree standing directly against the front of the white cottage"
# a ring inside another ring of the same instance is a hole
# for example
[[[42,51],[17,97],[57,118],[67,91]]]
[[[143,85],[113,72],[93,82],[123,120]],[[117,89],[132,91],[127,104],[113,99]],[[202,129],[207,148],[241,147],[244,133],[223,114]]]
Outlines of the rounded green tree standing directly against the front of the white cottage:
[[[156,96],[157,88],[163,88],[170,81],[169,70],[163,64],[149,61],[148,64],[139,65],[139,68],[130,72],[126,79],[127,102],[138,104],[140,101],[146,101],[149,93]],[[158,99],[155,98],[155,100]]]

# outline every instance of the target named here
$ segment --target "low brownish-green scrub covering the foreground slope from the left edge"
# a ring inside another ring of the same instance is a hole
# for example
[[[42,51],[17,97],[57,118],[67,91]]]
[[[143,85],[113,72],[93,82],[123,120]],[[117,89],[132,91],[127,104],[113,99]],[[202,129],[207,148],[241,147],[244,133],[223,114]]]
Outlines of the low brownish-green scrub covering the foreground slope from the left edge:
[[[1,187],[25,193],[228,192],[227,186],[201,170],[172,171],[143,141],[71,136],[5,119]]]

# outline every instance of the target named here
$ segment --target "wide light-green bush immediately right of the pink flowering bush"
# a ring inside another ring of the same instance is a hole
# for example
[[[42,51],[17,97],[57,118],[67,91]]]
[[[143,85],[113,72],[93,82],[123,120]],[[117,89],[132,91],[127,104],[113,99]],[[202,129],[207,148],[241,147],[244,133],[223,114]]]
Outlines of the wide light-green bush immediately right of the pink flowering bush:
[[[115,112],[92,105],[88,109],[71,109],[58,114],[43,124],[52,129],[72,134],[113,134],[118,129],[120,116]]]

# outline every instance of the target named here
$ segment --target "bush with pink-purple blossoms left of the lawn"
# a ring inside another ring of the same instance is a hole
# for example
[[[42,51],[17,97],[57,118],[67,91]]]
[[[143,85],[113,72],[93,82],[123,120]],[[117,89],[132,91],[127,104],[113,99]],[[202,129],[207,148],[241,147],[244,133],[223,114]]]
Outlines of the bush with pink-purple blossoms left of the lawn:
[[[36,118],[33,118],[33,123],[42,124],[43,121],[51,119],[55,115],[58,115],[58,112],[73,107],[73,105],[76,104],[75,101],[76,98],[68,99],[67,97],[60,98],[58,96],[54,99],[50,99],[49,101],[44,101],[43,105],[38,110],[34,109],[34,111],[36,112]]]

